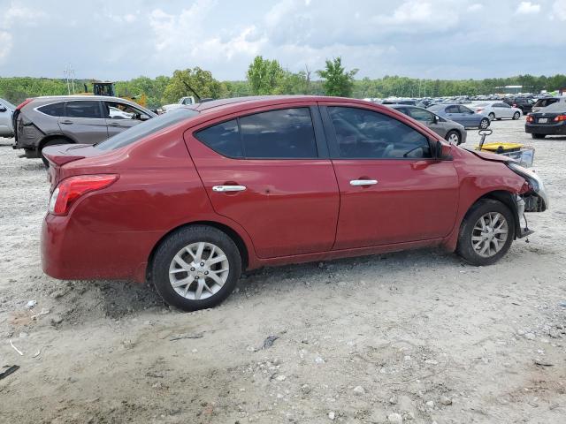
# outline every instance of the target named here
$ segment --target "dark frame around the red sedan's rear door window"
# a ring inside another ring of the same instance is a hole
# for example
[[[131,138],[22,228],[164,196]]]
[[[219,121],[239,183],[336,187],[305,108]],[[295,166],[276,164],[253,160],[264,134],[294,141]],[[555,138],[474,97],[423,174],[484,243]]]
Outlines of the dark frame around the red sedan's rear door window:
[[[240,118],[241,117],[249,117],[252,115],[257,115],[260,113],[266,113],[266,112],[272,112],[272,111],[276,111],[276,110],[287,110],[287,109],[307,109],[309,110],[310,113],[310,121],[312,122],[312,128],[313,128],[313,135],[315,138],[315,148],[317,149],[317,156],[313,156],[313,157],[247,157],[246,156],[246,148],[244,146],[243,143],[243,137],[242,137],[242,133],[241,133],[241,125],[240,125]],[[226,155],[224,153],[218,152],[218,150],[216,150],[215,148],[211,148],[210,146],[208,146],[207,144],[205,144],[202,140],[200,140],[197,137],[197,133],[200,133],[201,131],[204,131],[214,125],[220,125],[220,124],[224,124],[226,122],[229,121],[233,121],[236,120],[237,125],[238,125],[238,133],[240,135],[240,143],[241,143],[241,153],[242,156],[230,156],[230,155]],[[213,123],[208,125],[203,125],[203,126],[199,126],[196,129],[191,130],[191,136],[197,140],[199,143],[201,143],[204,147],[206,148],[210,148],[210,150],[212,150],[213,152],[215,152],[218,155],[221,155],[222,157],[226,157],[228,159],[233,159],[233,160],[240,160],[240,161],[316,161],[316,160],[321,160],[321,159],[328,159],[329,158],[329,152],[328,152],[328,146],[326,144],[326,139],[325,139],[325,130],[324,130],[324,126],[322,123],[322,119],[320,118],[320,112],[318,111],[317,106],[313,106],[311,104],[304,104],[304,105],[297,105],[297,104],[293,104],[293,105],[286,105],[286,104],[278,104],[277,107],[274,108],[270,108],[270,109],[263,109],[262,110],[246,110],[246,113],[243,114],[236,114],[234,115],[230,115],[230,117],[226,117],[226,118],[221,118],[218,121],[215,120]]]

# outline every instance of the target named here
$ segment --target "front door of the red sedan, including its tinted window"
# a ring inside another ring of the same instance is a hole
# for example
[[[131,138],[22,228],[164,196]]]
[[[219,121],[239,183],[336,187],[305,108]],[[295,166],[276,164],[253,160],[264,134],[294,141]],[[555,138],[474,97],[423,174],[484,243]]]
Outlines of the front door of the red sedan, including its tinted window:
[[[321,103],[322,104],[322,103]],[[340,189],[334,249],[440,239],[452,231],[458,176],[426,133],[386,112],[321,106]]]

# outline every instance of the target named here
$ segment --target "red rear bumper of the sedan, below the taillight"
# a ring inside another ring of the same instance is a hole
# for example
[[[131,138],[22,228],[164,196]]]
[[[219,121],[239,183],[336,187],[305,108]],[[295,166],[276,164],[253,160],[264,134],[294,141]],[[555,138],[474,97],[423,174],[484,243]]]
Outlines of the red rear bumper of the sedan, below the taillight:
[[[70,216],[47,214],[42,223],[42,269],[61,280],[144,282],[149,254],[162,232],[88,231]]]

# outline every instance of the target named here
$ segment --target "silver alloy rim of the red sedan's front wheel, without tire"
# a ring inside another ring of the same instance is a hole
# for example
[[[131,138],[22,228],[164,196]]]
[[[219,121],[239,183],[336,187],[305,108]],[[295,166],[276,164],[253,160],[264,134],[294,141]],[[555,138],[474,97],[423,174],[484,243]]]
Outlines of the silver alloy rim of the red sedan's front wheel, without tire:
[[[471,232],[471,246],[483,258],[497,254],[507,241],[509,225],[499,212],[480,216]]]

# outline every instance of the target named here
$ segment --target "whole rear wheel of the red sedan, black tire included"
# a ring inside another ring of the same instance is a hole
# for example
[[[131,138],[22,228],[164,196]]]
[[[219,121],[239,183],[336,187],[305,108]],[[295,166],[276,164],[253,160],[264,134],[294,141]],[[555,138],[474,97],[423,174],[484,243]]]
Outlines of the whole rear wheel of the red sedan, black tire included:
[[[210,258],[217,261],[209,264]],[[173,232],[157,247],[151,264],[157,292],[165,303],[183,311],[217,306],[233,292],[240,275],[241,255],[233,239],[207,225]],[[184,280],[187,283],[180,284]]]

